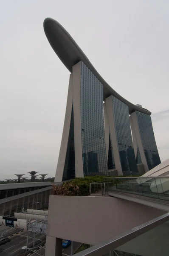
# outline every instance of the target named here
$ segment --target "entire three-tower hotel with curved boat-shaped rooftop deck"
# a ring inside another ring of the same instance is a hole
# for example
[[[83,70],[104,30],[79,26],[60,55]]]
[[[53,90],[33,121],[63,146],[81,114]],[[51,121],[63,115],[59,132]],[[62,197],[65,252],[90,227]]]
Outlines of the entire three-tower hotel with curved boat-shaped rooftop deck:
[[[119,95],[54,19],[45,35],[70,71],[55,181],[88,175],[142,175],[161,163],[151,112]]]

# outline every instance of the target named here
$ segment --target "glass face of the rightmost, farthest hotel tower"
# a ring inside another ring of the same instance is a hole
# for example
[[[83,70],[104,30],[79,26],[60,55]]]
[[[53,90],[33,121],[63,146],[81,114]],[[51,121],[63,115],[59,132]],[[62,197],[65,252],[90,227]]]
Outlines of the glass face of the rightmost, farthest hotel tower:
[[[144,113],[138,111],[135,112],[147,165],[149,170],[151,170],[161,163],[152,128],[152,119]]]

